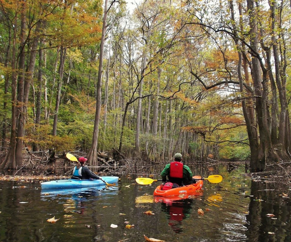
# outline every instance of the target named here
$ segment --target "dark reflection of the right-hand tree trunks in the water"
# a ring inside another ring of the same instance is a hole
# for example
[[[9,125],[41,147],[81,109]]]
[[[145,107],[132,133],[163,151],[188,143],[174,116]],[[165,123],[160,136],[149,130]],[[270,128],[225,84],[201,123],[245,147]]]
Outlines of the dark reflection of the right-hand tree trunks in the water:
[[[288,187],[284,186],[278,190],[278,184],[251,182],[253,197],[251,197],[249,214],[246,215],[248,241],[291,241],[290,203],[279,196],[282,191],[288,191]],[[255,199],[264,201],[254,201]],[[267,217],[268,213],[274,214],[276,219]],[[268,232],[275,234],[268,234]]]

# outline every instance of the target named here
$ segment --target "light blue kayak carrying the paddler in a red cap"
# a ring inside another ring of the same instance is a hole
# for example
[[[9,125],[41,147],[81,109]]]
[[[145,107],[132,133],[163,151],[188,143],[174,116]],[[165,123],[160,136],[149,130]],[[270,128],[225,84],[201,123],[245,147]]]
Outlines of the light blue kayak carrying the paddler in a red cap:
[[[116,183],[118,182],[117,176],[103,176],[100,177],[107,183]],[[45,189],[56,189],[56,188],[74,188],[74,187],[97,187],[103,186],[104,182],[101,180],[74,180],[74,179],[63,179],[63,180],[54,180],[49,182],[42,182],[41,188]]]

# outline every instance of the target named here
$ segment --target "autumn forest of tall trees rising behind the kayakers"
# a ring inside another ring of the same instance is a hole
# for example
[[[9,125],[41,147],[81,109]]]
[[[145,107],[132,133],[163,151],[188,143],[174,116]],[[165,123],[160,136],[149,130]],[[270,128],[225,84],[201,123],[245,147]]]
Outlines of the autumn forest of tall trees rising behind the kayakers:
[[[113,150],[251,171],[290,160],[291,2],[0,4],[0,168],[48,149],[91,165]]]

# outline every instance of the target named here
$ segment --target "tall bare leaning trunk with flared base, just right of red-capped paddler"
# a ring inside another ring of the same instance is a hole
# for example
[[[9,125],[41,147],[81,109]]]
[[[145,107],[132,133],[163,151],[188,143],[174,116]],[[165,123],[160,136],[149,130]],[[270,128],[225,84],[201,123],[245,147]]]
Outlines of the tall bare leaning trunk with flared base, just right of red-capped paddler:
[[[102,79],[102,67],[103,67],[104,41],[105,41],[105,33],[106,33],[107,3],[108,3],[108,0],[105,0],[102,36],[101,36],[101,42],[100,42],[100,58],[99,58],[99,67],[98,67],[95,123],[94,123],[92,146],[88,154],[88,162],[92,166],[96,166],[98,164],[97,144],[98,144],[99,121],[100,121],[101,79]]]

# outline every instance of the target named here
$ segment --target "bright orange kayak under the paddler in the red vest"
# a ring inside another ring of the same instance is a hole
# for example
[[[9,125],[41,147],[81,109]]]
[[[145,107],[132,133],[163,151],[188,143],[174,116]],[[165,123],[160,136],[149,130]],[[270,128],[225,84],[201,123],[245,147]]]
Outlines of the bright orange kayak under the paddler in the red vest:
[[[194,176],[193,178],[201,179],[200,176]],[[154,196],[181,196],[185,197],[186,195],[191,195],[195,193],[196,191],[200,190],[203,186],[203,180],[196,180],[195,184],[183,186],[183,187],[177,187],[172,188],[169,190],[162,191],[161,185],[159,185],[155,191]]]

